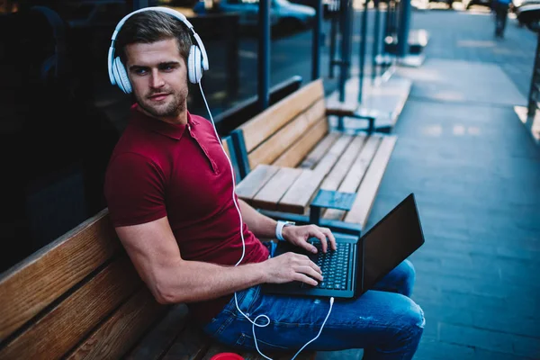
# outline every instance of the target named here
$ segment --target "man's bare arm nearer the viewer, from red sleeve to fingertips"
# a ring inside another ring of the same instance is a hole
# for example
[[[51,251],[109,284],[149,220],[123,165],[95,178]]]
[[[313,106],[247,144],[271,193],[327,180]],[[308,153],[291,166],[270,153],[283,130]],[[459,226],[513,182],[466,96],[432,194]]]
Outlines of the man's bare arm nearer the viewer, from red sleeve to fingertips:
[[[293,253],[243,266],[184,260],[166,217],[119,227],[116,232],[140,277],[160,303],[200,302],[263,283],[302,281],[316,285],[322,280],[319,266]]]

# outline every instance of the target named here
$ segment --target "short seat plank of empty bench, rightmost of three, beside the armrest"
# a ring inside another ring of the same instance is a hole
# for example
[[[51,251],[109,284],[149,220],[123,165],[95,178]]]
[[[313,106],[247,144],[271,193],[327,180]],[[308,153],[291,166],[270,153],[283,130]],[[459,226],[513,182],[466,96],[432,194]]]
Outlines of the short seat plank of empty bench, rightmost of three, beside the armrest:
[[[303,169],[302,174],[284,194],[277,204],[278,211],[302,214],[310,204],[311,198],[319,189],[324,178],[321,172]]]

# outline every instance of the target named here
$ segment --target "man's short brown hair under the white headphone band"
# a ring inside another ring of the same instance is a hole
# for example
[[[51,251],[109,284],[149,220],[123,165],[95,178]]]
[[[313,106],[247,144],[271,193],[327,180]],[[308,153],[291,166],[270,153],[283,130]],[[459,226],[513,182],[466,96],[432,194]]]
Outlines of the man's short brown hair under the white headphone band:
[[[181,20],[160,11],[144,11],[133,14],[123,24],[116,38],[115,48],[122,64],[126,65],[126,45],[152,43],[160,40],[176,39],[178,51],[187,63],[192,46],[190,31]]]

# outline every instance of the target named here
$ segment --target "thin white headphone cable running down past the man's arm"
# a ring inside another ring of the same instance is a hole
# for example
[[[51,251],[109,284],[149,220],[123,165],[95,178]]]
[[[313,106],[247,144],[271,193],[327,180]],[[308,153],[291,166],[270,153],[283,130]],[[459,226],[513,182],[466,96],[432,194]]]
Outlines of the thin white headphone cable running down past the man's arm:
[[[214,123],[213,117],[211,116],[210,107],[208,106],[208,103],[206,102],[206,97],[204,96],[204,92],[202,91],[202,85],[201,85],[200,82],[199,82],[199,88],[201,89],[202,100],[204,101],[204,105],[206,106],[206,110],[208,111],[208,114],[210,115],[210,120],[211,120],[212,128],[214,130],[214,134],[216,135],[216,139],[220,143],[221,150],[223,150],[223,154],[225,154],[225,157],[227,157],[227,159],[229,160],[230,174],[232,175],[232,202],[234,202],[234,206],[236,207],[236,210],[238,211],[238,219],[240,220],[240,237],[242,238],[242,256],[238,260],[238,263],[235,264],[235,266],[238,266],[242,262],[242,260],[244,259],[244,255],[246,254],[246,240],[244,239],[244,230],[243,230],[244,221],[242,220],[242,212],[240,211],[240,208],[238,206],[238,202],[236,201],[236,196],[235,196],[235,194],[236,194],[236,182],[235,182],[235,178],[234,178],[234,168],[232,167],[232,162],[230,161],[230,158],[227,155],[227,151],[225,151],[225,148],[223,148],[223,144],[221,143],[220,135],[218,135],[218,130],[216,130],[216,124]],[[237,293],[236,292],[234,293],[234,302],[236,303],[236,307],[237,307],[238,312],[240,314],[242,314],[244,316],[244,318],[246,318],[252,324],[251,329],[253,331],[253,339],[255,340],[255,347],[257,348],[257,352],[261,356],[263,356],[264,358],[266,358],[268,360],[273,360],[271,357],[266,356],[265,354],[263,354],[259,350],[258,345],[257,345],[257,336],[255,335],[255,327],[266,328],[268,325],[270,325],[270,318],[268,318],[264,314],[260,314],[260,315],[257,316],[257,318],[255,318],[255,320],[249,319],[249,317],[243,311],[241,311],[240,307],[238,306],[238,298],[237,298]],[[330,298],[329,313],[327,314],[325,320],[322,322],[322,325],[320,326],[319,334],[317,334],[317,336],[315,338],[312,338],[300,350],[298,350],[298,352],[293,356],[293,359],[291,359],[291,360],[294,360],[294,358],[296,356],[298,356],[298,354],[300,354],[300,352],[304,349],[304,347],[307,347],[313,341],[315,341],[317,338],[319,338],[320,332],[322,331],[322,328],[324,328],[324,324],[326,324],[326,321],[329,319],[330,312],[332,311],[333,304],[334,304],[334,298],[332,297],[332,298]],[[259,318],[266,319],[266,324],[260,324],[260,325],[257,324],[257,320]]]

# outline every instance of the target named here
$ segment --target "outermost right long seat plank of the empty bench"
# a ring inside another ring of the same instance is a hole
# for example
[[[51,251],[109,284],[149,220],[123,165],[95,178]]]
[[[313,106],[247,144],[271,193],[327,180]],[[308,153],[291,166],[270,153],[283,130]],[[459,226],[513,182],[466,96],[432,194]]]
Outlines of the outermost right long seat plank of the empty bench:
[[[374,204],[375,195],[383,180],[384,170],[386,170],[386,166],[390,161],[397,139],[396,136],[386,136],[383,138],[383,141],[381,141],[381,145],[377,149],[377,153],[367,169],[365,179],[362,184],[360,184],[353,208],[351,211],[347,212],[347,216],[345,217],[347,222],[359,223],[362,228],[365,227],[369,213]]]

